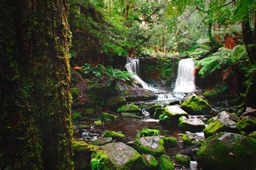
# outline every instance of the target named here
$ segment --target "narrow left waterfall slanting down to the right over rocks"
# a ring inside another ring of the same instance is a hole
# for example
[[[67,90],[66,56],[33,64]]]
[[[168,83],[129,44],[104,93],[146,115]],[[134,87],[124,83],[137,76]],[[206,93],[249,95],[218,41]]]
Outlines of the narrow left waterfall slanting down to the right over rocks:
[[[136,79],[140,84],[142,84],[142,87],[144,89],[150,90],[150,91],[160,91],[158,89],[149,87],[149,85],[147,83],[145,83],[142,79],[140,79],[139,75],[140,75],[140,68],[139,68],[139,59],[134,59],[134,58],[126,58],[126,65],[125,68],[128,70],[128,72],[130,73],[137,73],[137,74],[133,74],[133,78]]]

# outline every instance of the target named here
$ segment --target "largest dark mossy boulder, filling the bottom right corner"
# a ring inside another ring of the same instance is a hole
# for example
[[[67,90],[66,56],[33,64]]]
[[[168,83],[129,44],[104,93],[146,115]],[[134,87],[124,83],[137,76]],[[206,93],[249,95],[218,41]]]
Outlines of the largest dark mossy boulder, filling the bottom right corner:
[[[220,132],[208,138],[197,152],[202,169],[255,169],[256,139]]]

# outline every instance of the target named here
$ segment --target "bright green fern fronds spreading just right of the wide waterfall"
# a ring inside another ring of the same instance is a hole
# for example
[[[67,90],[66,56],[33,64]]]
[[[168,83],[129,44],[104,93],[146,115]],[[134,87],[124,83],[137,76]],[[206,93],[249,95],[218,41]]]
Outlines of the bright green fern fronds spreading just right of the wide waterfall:
[[[246,60],[247,53],[245,46],[237,45],[233,49],[219,48],[218,52],[207,58],[196,62],[196,66],[201,66],[199,74],[205,77],[215,70],[230,67],[231,65],[241,65],[242,59]]]

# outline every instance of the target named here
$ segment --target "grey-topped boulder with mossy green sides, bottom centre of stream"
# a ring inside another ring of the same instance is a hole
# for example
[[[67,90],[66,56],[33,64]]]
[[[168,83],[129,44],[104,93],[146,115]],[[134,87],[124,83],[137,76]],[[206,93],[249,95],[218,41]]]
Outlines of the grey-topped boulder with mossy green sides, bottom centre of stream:
[[[161,136],[138,138],[136,146],[139,153],[152,154],[154,157],[165,154],[164,140]]]

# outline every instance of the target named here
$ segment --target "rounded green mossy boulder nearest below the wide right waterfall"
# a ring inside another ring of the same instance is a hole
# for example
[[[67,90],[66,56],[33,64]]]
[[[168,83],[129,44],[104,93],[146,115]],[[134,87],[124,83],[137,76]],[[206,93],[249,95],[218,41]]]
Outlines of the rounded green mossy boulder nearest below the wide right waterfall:
[[[185,110],[190,115],[207,115],[212,107],[203,99],[197,96],[190,96],[183,102],[181,109]]]

